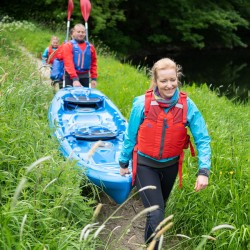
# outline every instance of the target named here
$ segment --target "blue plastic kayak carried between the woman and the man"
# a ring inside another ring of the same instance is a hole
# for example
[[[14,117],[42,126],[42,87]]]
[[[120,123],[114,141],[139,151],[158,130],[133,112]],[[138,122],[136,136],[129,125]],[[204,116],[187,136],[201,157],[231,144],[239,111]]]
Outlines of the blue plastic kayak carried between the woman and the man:
[[[63,156],[76,160],[91,182],[123,203],[132,176],[120,175],[118,158],[127,121],[119,109],[96,89],[67,87],[54,96],[48,117]]]

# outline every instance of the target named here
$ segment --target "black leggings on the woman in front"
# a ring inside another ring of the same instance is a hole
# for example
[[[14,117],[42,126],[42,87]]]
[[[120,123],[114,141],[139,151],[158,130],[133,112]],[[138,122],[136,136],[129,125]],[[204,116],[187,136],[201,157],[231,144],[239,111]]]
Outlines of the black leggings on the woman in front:
[[[151,168],[143,165],[137,166],[135,184],[137,190],[146,186],[156,186],[156,189],[146,189],[140,192],[140,197],[145,208],[158,205],[159,208],[147,214],[145,227],[145,242],[152,240],[158,224],[164,219],[166,201],[173,188],[178,173],[178,162],[165,168]],[[158,244],[155,249],[158,249]]]

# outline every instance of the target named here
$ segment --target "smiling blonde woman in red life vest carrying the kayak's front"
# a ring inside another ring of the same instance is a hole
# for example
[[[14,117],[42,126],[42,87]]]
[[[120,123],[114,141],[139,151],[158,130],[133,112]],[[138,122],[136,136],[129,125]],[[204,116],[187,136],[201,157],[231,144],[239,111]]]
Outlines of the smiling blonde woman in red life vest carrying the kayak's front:
[[[181,67],[169,58],[154,64],[150,89],[134,99],[119,157],[122,176],[129,174],[128,165],[133,158],[133,183],[138,190],[156,187],[140,192],[145,208],[158,205],[158,209],[147,215],[146,243],[152,240],[152,234],[164,219],[166,201],[178,173],[181,186],[183,150],[191,144],[187,127],[198,151],[199,170],[194,189],[197,192],[208,185],[210,137],[200,111],[178,89],[181,75]]]

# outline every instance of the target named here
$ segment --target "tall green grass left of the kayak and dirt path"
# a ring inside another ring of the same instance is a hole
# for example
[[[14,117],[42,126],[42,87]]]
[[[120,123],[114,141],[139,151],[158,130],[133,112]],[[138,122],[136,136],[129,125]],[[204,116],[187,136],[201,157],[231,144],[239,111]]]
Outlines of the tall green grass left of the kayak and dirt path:
[[[80,185],[90,184],[82,180],[75,162],[61,157],[51,137],[47,115],[53,90],[40,81],[36,63],[23,56],[4,32],[0,33],[0,248],[91,249],[98,241],[80,241],[79,235],[91,221],[96,201],[81,195]]]

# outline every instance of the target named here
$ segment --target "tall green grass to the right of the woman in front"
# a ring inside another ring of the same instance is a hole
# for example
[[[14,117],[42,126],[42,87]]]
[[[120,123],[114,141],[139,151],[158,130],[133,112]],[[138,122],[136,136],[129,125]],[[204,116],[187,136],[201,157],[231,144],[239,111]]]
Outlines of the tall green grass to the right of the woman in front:
[[[236,230],[213,233],[216,241],[206,249],[247,249],[249,246],[249,104],[217,98],[204,85],[185,87],[202,111],[212,139],[212,170],[206,190],[195,193],[197,162],[187,152],[183,190],[177,188],[167,213],[174,213],[175,232],[190,237],[208,234],[219,224]],[[199,241],[194,240],[194,244]],[[192,246],[192,244],[191,244]],[[192,249],[192,248],[191,248]]]

